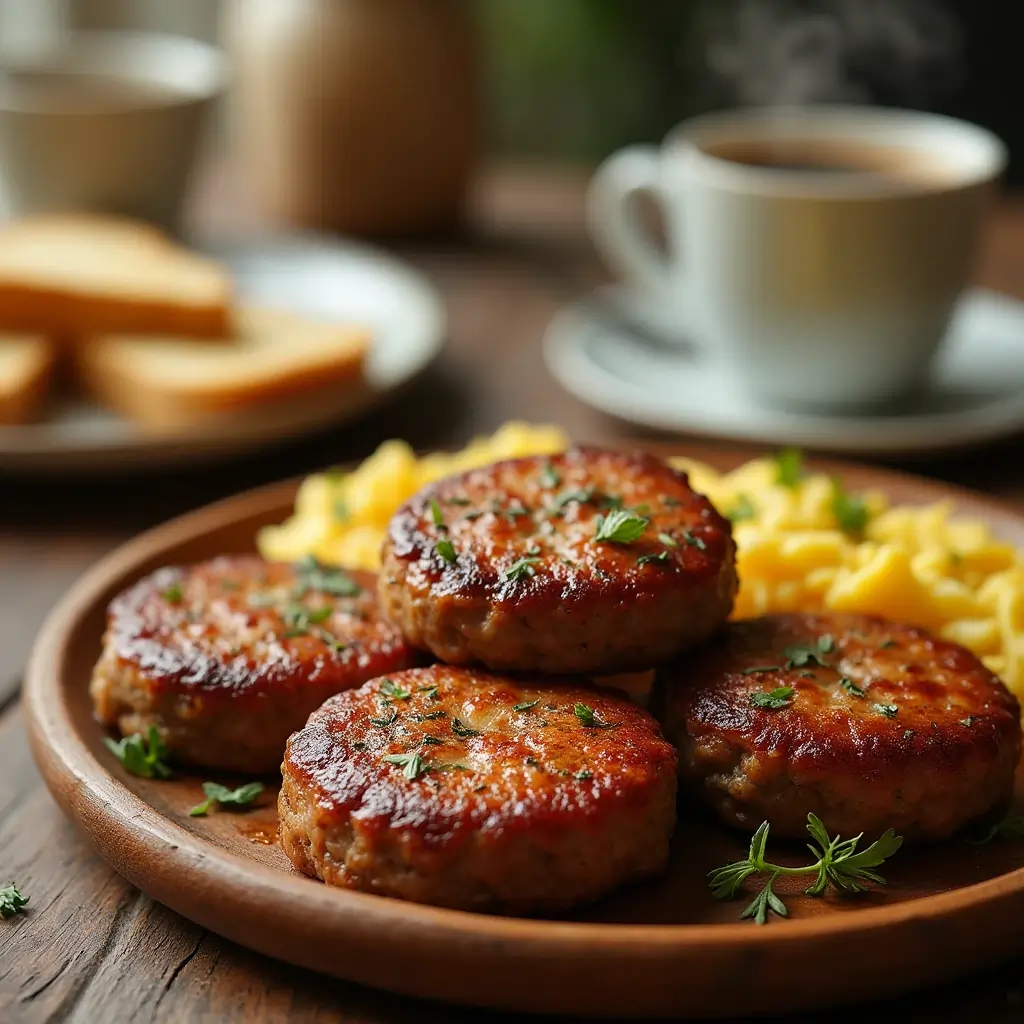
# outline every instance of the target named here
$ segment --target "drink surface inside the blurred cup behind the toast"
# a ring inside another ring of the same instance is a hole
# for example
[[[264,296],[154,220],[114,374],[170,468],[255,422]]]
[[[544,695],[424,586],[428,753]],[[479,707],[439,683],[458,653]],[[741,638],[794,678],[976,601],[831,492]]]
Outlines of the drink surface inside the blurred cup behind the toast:
[[[0,69],[0,102],[33,110],[116,111],[177,103],[183,93],[159,82],[42,68]]]

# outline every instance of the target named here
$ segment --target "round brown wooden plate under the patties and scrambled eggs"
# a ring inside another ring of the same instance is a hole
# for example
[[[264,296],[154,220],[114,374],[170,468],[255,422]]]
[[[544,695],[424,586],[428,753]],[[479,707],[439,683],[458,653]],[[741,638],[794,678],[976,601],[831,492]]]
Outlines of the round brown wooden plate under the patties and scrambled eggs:
[[[691,451],[720,466],[750,456]],[[1024,547],[1024,517],[966,492],[819,464],[894,501],[951,498]],[[272,793],[245,815],[189,818],[203,776],[126,775],[102,745],[87,693],[104,609],[159,565],[251,551],[291,509],[294,483],[213,505],[142,535],[83,578],[47,620],[26,685],[36,760],[57,803],[114,867],[155,899],[260,952],[419,996],[518,1011],[702,1017],[794,1011],[893,994],[1024,948],[1024,846],[952,841],[901,852],[863,899],[796,896],[792,918],[737,923],[707,871],[745,842],[681,813],[668,874],[571,919],[524,921],[329,889],[274,843]],[[207,776],[208,777],[208,776]],[[229,779],[222,779],[229,781]]]

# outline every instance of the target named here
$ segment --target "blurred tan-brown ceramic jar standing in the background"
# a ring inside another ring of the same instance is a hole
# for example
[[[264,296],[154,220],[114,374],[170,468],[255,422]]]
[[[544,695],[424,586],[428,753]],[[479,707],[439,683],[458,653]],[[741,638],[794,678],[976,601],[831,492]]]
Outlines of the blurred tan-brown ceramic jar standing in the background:
[[[480,135],[460,0],[230,0],[236,155],[263,211],[353,234],[455,219]]]

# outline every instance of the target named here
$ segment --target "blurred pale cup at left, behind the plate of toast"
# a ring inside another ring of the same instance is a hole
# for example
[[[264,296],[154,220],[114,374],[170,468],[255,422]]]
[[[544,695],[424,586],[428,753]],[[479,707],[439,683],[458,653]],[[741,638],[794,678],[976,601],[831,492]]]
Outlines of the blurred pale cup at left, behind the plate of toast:
[[[226,79],[220,50],[178,36],[71,32],[14,49],[0,40],[0,210],[173,228]]]

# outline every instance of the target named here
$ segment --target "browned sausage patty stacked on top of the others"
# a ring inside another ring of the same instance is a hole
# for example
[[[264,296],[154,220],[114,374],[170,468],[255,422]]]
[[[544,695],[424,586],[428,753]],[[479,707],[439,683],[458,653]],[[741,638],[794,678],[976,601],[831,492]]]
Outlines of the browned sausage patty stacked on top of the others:
[[[384,545],[381,604],[452,664],[628,672],[727,617],[734,557],[728,522],[684,473],[640,452],[573,449],[452,476],[407,502]]]

